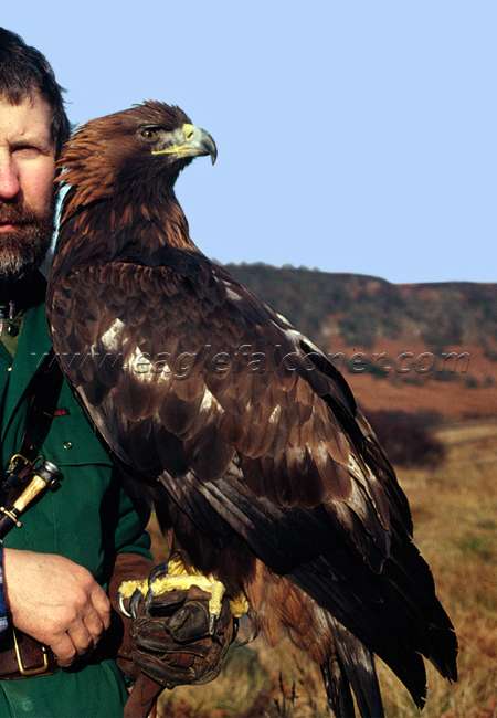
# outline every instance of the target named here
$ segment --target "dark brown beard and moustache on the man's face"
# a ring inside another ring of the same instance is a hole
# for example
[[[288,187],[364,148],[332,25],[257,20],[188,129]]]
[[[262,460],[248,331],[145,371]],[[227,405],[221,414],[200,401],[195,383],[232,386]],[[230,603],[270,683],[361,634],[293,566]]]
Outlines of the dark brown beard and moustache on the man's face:
[[[52,242],[54,214],[55,197],[44,215],[22,201],[0,202],[0,223],[15,225],[0,232],[0,279],[15,282],[38,270]]]

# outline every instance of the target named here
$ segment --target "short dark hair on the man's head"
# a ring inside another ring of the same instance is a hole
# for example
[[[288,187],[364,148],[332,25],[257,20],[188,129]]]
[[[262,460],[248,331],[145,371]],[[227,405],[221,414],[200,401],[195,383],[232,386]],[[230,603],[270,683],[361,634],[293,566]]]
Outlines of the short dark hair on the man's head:
[[[0,28],[0,96],[18,105],[36,91],[52,108],[52,139],[59,156],[71,129],[62,98],[64,89],[39,50],[27,45],[14,32]]]

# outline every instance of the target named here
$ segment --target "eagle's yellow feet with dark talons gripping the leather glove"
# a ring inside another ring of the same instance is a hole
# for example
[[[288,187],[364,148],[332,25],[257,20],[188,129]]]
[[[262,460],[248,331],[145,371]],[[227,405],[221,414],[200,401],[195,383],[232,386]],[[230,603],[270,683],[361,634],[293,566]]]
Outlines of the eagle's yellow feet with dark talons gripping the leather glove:
[[[167,591],[188,591],[192,585],[197,585],[211,595],[209,599],[209,631],[213,633],[215,622],[221,615],[222,600],[226,589],[212,574],[203,576],[194,568],[187,569],[178,556],[172,557],[167,566],[156,567],[150,577],[144,581],[124,581],[119,587],[119,606],[126,615],[130,616],[123,605],[123,600],[130,599],[136,591],[144,596],[150,591],[154,596],[161,595]],[[234,617],[240,617],[247,612],[248,603],[244,596],[236,596],[230,601],[230,609]]]

